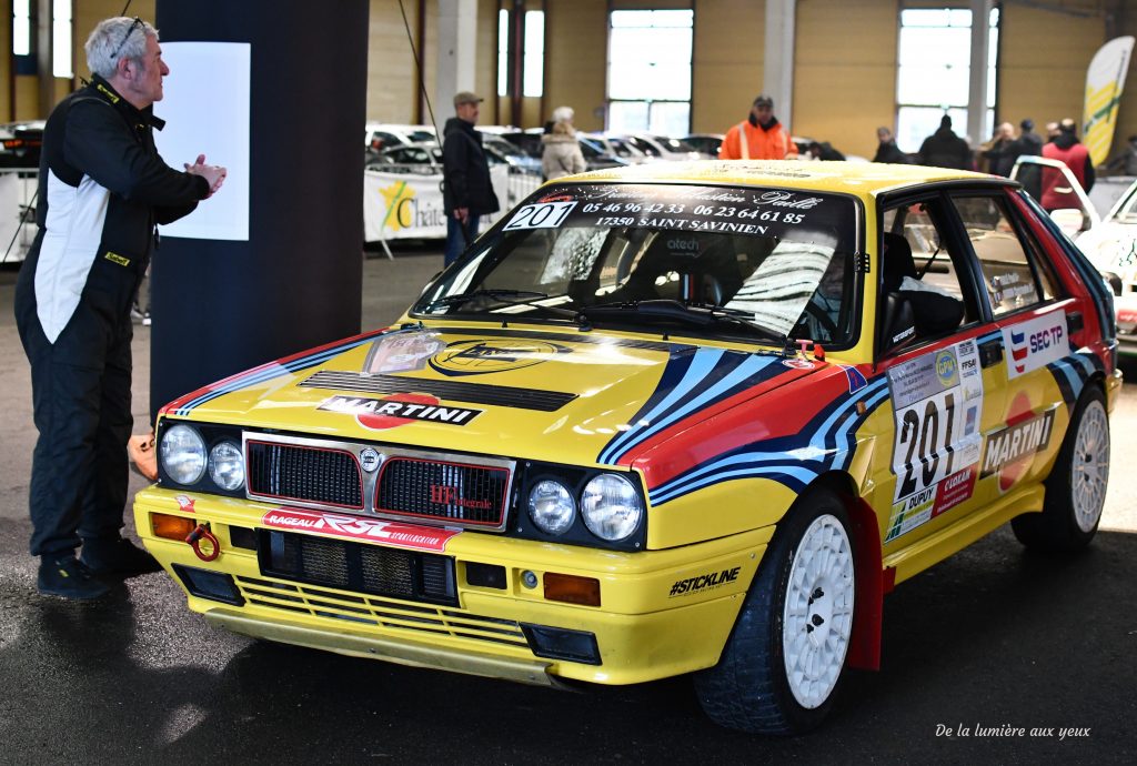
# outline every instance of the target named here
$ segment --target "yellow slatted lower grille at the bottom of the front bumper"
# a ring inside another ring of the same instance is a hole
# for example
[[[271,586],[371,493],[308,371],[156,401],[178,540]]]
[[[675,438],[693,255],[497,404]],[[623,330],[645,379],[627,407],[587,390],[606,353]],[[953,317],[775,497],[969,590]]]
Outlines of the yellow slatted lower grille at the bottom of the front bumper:
[[[521,626],[509,619],[485,617],[446,607],[402,603],[373,596],[337,593],[307,584],[257,577],[234,580],[241,596],[250,606],[390,631],[450,635],[457,639],[505,644],[530,653]]]

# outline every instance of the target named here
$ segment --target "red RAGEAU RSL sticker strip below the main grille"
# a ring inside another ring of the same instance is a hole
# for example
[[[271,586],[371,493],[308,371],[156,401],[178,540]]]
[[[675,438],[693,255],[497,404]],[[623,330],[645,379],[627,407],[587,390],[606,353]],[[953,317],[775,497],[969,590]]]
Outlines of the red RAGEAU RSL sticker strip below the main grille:
[[[435,553],[445,551],[446,543],[462,533],[460,530],[441,530],[401,522],[380,522],[358,516],[341,516],[294,508],[269,510],[260,518],[260,523],[273,530],[377,542],[392,548],[425,550]]]

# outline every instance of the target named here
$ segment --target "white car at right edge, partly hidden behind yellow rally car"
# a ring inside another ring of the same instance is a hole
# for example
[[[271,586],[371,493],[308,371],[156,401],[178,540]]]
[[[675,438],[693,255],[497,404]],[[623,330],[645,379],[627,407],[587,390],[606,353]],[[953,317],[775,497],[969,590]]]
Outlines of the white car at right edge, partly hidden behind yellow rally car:
[[[1011,170],[1078,245],[1113,291],[1118,351],[1137,355],[1137,182],[1099,216],[1064,163],[1020,157]]]

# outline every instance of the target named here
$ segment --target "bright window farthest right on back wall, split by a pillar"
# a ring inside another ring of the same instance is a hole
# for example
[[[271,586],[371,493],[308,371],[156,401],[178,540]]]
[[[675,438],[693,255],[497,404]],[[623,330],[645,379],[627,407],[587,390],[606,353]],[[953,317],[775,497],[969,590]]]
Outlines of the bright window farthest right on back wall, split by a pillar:
[[[985,133],[995,126],[995,68],[998,52],[998,8],[993,8],[987,36],[987,110]],[[939,127],[946,113],[957,135],[966,133],[971,77],[971,11],[920,8],[901,11],[899,67],[896,81],[896,142],[914,152]]]

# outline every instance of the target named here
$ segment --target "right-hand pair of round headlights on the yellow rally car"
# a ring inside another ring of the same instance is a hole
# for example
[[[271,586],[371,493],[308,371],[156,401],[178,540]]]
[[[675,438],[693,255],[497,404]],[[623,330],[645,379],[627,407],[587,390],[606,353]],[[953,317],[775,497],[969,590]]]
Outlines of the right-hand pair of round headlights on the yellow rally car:
[[[528,506],[529,517],[546,534],[564,534],[579,513],[589,532],[609,542],[629,538],[644,517],[644,500],[619,474],[595,476],[584,485],[579,501],[561,481],[542,478],[530,489]]]

